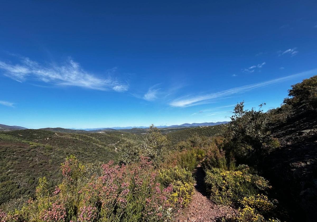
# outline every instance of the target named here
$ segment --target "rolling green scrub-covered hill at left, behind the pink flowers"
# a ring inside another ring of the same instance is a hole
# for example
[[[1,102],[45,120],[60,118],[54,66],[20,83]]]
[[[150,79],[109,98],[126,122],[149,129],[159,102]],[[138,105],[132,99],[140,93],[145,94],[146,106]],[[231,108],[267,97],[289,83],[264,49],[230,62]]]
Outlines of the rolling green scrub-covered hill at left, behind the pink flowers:
[[[117,160],[116,147],[141,137],[127,132],[60,133],[48,130],[0,132],[0,205],[32,196],[39,177],[50,184],[61,179],[60,164],[74,154],[85,163]]]

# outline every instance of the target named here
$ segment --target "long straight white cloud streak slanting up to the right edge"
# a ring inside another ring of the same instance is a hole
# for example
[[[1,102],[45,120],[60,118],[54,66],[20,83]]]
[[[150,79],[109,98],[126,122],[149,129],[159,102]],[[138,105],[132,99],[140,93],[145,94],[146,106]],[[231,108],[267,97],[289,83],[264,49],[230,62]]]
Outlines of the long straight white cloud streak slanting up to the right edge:
[[[193,105],[207,104],[207,103],[211,103],[215,99],[227,97],[236,93],[243,93],[243,92],[247,92],[256,88],[269,86],[275,83],[280,83],[280,82],[293,79],[295,77],[299,77],[302,75],[313,75],[313,74],[317,74],[317,69],[313,69],[307,72],[302,72],[302,73],[298,73],[298,74],[294,74],[294,75],[290,75],[290,76],[286,76],[286,77],[282,77],[278,79],[272,79],[266,82],[235,87],[235,88],[227,89],[220,92],[210,93],[206,95],[193,96],[193,97],[185,96],[185,97],[174,99],[169,105],[174,107],[187,107],[187,106],[193,106]]]

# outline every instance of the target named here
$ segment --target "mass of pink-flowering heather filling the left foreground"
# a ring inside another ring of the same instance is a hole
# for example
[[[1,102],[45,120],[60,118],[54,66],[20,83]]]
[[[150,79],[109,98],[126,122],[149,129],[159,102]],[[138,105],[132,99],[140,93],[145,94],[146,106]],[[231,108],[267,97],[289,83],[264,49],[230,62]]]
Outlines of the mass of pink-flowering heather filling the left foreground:
[[[0,211],[1,222],[167,221],[182,206],[182,198],[175,200],[173,185],[165,183],[162,188],[157,181],[148,157],[141,156],[133,167],[110,161],[98,175],[70,156],[61,170],[64,178],[55,191],[50,192],[46,178],[41,178],[36,199],[21,210]]]

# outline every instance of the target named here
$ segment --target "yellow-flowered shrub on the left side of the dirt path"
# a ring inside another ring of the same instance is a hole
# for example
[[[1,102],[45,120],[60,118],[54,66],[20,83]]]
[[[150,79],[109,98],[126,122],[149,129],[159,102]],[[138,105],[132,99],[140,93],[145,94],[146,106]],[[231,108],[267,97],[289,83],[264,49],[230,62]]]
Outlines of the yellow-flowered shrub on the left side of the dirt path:
[[[194,194],[194,179],[190,171],[176,166],[171,169],[160,170],[159,177],[164,187],[172,185],[171,202],[174,205],[184,207],[189,204],[191,196]]]

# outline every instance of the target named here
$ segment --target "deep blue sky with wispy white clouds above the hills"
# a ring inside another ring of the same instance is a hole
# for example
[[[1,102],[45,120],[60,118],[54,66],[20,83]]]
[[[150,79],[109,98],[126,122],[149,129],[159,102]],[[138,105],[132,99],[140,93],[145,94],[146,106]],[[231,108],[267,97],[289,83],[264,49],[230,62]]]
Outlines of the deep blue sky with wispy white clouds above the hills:
[[[228,121],[317,74],[316,1],[3,1],[0,123]]]

